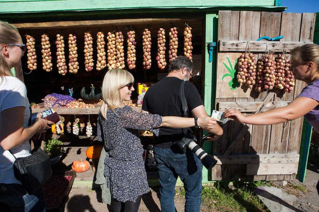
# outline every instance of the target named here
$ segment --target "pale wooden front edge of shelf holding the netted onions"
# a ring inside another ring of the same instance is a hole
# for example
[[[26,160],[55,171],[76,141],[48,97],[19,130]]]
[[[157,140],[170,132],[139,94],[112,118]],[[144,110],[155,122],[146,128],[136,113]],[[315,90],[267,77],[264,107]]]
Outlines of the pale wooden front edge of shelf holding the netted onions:
[[[47,108],[32,108],[32,113],[39,113]],[[142,107],[132,107],[137,112],[142,111]],[[99,114],[100,107],[98,108],[54,108],[54,111],[60,114]]]

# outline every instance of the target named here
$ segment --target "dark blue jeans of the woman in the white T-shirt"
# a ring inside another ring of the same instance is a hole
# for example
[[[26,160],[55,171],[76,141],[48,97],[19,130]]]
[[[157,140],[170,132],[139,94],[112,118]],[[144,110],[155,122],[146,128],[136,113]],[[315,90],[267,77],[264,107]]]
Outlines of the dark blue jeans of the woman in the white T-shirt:
[[[0,183],[0,211],[45,212],[45,201],[42,188],[32,195],[20,184]]]

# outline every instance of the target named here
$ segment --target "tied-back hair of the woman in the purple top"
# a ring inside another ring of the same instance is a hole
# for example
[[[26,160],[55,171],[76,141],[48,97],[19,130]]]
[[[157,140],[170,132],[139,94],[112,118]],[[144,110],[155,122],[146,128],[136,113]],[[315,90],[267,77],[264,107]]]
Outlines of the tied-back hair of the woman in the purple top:
[[[307,64],[312,61],[319,68],[319,46],[317,44],[297,46],[290,51],[290,54],[299,60],[301,64]]]

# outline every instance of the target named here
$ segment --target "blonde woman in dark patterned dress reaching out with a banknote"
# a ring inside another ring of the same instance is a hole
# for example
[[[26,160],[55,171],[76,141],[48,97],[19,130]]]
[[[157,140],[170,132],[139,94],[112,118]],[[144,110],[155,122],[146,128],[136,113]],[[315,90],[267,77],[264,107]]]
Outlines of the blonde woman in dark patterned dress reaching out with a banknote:
[[[134,77],[126,70],[112,69],[103,79],[103,103],[99,111],[98,138],[107,151],[104,176],[115,199],[113,210],[138,211],[141,197],[149,192],[138,130],[158,135],[159,126],[186,128],[195,126],[194,118],[161,117],[139,113],[123,101],[130,100]],[[216,124],[210,117],[198,118],[199,127],[209,130]]]

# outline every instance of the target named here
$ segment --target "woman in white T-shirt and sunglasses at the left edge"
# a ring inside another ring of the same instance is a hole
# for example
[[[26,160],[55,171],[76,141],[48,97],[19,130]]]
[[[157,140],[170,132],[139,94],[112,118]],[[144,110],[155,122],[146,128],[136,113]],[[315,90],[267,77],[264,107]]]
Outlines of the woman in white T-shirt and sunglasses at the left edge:
[[[26,192],[21,182],[14,177],[15,158],[30,154],[29,139],[46,131],[53,122],[38,117],[28,126],[30,104],[26,86],[11,74],[12,67],[21,65],[26,51],[17,28],[0,21],[0,210],[45,211],[42,188],[32,195]]]

